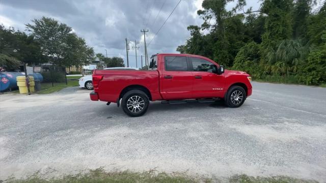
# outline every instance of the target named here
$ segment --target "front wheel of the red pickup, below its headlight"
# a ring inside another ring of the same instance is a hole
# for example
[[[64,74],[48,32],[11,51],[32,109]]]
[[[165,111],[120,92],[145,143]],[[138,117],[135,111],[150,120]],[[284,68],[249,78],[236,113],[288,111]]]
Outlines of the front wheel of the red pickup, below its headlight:
[[[231,86],[225,95],[224,103],[228,107],[240,107],[246,100],[246,90],[241,86]]]

